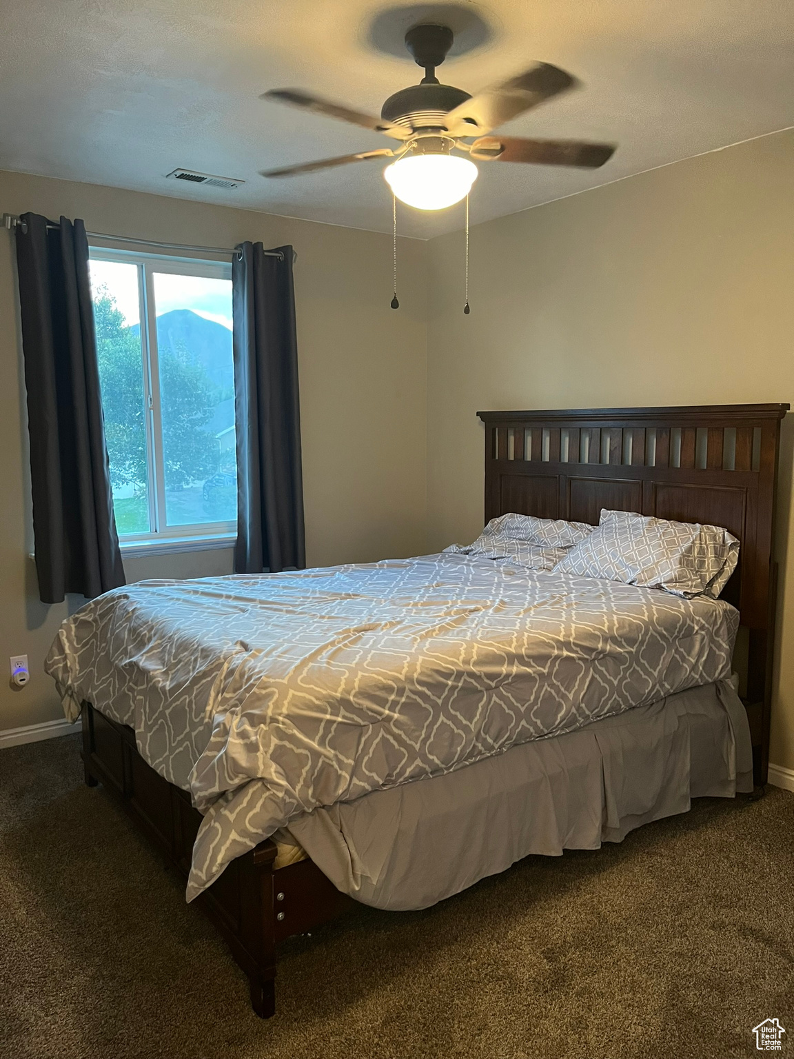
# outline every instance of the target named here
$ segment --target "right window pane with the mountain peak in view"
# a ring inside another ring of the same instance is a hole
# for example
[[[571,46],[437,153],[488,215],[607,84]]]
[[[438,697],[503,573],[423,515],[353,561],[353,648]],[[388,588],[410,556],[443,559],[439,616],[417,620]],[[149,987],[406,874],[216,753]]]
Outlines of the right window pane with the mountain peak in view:
[[[166,523],[234,522],[232,281],[155,272],[152,284]]]

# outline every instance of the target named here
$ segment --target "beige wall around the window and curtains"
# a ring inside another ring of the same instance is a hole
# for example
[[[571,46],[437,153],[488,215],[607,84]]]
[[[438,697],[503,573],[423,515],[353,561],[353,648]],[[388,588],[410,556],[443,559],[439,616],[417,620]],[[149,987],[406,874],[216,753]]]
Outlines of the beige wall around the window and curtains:
[[[426,244],[400,240],[400,310],[385,235],[109,187],[0,173],[0,210],[88,229],[231,247],[291,243],[295,266],[307,557],[312,566],[420,552],[426,528]],[[0,731],[58,716],[43,657],[67,607],[38,602],[31,550],[13,239],[0,233]],[[128,579],[231,572],[228,551],[128,559]],[[72,600],[74,605],[74,600]],[[7,672],[7,669],[5,669]]]

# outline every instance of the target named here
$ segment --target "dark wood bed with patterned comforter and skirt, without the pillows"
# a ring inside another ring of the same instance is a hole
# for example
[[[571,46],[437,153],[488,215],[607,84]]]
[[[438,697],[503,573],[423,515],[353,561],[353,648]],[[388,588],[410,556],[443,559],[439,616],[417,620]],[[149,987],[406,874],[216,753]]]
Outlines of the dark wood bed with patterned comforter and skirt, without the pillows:
[[[258,1015],[277,944],[351,897],[426,907],[528,852],[619,841],[765,782],[787,408],[481,413],[486,520],[609,508],[724,526],[741,543],[734,606],[448,553],[149,582],[70,620],[91,679],[61,690],[82,706],[87,783],[187,875]],[[444,857],[422,854],[439,841]]]

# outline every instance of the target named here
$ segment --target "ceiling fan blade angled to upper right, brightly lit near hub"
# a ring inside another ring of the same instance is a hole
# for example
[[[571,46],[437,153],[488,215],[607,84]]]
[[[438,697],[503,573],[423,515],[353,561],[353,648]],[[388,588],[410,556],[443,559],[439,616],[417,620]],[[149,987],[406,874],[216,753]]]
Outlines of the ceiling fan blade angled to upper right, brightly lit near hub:
[[[491,85],[454,110],[445,119],[453,136],[476,136],[489,132],[511,118],[531,110],[553,95],[578,85],[575,77],[548,62],[538,62],[518,77]]]

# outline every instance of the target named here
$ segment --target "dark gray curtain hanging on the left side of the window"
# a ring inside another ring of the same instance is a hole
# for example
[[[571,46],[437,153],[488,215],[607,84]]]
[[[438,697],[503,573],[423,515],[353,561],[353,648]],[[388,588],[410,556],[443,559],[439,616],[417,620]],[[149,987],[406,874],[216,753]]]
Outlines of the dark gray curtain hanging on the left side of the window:
[[[124,585],[82,220],[17,226],[36,571],[43,603]]]

